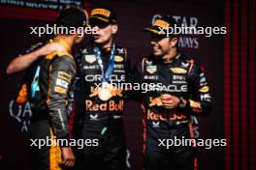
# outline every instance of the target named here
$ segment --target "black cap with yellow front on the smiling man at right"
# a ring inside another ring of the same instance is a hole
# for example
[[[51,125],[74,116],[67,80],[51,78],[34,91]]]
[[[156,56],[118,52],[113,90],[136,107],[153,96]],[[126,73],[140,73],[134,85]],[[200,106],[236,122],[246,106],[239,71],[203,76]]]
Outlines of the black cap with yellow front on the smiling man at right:
[[[155,19],[154,24],[150,27],[144,28],[144,31],[151,32],[159,36],[166,35],[166,37],[170,37],[170,35],[167,34],[167,30],[171,27],[174,28],[175,25],[176,25],[176,20],[170,15],[167,15],[167,16],[163,16],[161,18]],[[173,34],[171,36],[177,36],[177,35]]]

